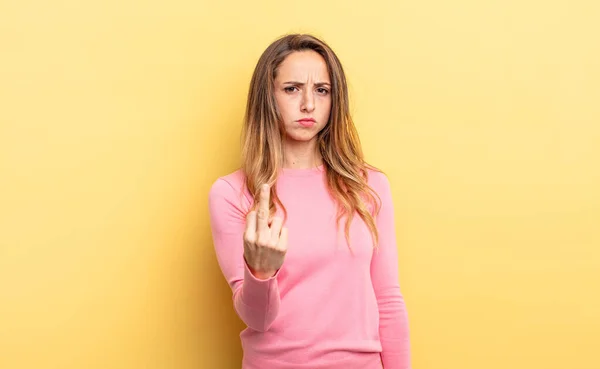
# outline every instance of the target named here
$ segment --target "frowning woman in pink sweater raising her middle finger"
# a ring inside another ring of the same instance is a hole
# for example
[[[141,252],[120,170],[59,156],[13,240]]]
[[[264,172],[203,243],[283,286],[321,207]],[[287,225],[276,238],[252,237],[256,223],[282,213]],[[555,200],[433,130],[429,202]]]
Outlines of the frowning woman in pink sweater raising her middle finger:
[[[363,159],[323,41],[288,35],[262,54],[242,157],[209,194],[219,265],[248,326],[242,367],[409,368],[390,185]]]

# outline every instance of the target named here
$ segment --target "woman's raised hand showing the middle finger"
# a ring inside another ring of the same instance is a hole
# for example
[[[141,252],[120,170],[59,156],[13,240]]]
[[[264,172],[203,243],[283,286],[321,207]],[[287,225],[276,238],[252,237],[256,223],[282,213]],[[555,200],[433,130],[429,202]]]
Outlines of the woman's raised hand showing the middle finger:
[[[283,219],[273,217],[269,226],[269,185],[262,185],[258,211],[246,216],[244,232],[244,259],[252,275],[268,279],[281,268],[287,252],[287,228]]]

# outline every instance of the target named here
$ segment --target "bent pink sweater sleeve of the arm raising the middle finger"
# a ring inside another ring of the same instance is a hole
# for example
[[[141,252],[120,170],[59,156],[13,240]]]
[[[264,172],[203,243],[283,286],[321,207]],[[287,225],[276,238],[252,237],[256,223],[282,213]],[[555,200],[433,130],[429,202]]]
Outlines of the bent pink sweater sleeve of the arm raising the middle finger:
[[[269,329],[279,311],[277,274],[260,280],[252,275],[244,260],[246,212],[240,191],[219,178],[209,192],[209,213],[213,243],[219,267],[233,292],[238,316],[251,329]]]

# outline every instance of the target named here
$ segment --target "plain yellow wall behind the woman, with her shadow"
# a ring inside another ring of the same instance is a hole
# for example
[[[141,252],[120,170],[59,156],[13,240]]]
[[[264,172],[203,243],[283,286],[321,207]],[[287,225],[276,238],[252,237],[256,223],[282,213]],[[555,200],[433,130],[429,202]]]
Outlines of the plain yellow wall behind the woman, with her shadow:
[[[0,368],[239,368],[208,224],[288,32],[387,172],[414,368],[600,368],[596,1],[0,2]]]

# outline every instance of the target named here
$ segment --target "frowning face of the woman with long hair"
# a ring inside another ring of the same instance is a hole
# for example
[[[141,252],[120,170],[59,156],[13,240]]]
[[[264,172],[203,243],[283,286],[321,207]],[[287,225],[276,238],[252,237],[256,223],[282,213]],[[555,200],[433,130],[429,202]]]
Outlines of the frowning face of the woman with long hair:
[[[275,100],[287,139],[315,139],[331,111],[331,81],[325,59],[312,50],[288,55],[277,71]]]

